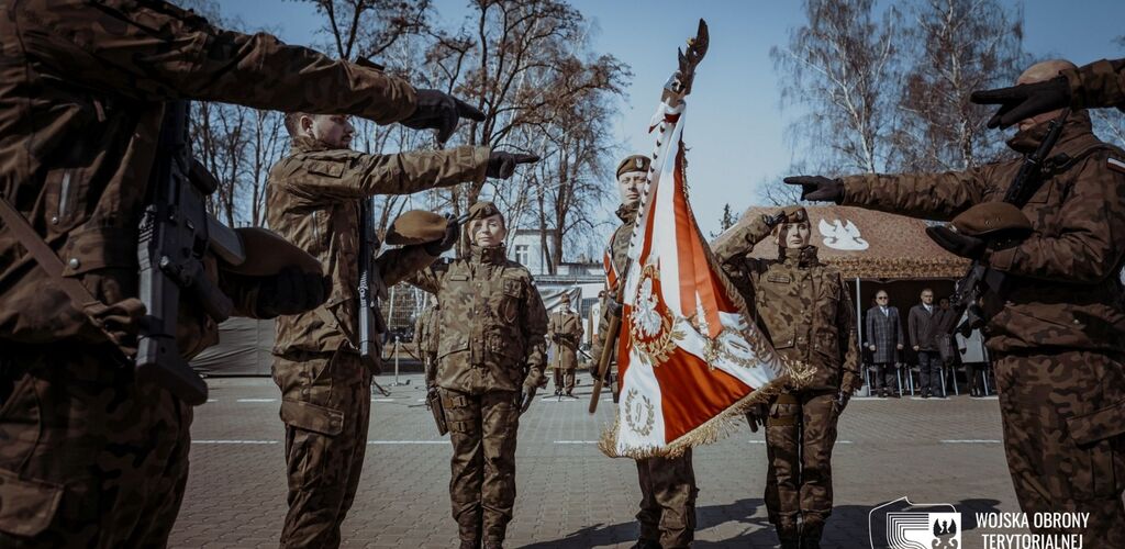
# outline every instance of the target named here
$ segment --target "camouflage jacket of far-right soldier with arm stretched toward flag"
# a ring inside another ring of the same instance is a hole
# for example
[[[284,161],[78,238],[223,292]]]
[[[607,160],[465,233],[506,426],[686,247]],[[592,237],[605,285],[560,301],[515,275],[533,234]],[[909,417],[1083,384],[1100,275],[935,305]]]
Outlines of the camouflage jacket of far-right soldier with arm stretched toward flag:
[[[1002,308],[984,328],[996,352],[1050,348],[1120,352],[1125,292],[1125,154],[1099,141],[1076,111],[1044,163],[1044,182],[1023,212],[1035,232],[988,252],[1008,274]],[[1019,161],[962,172],[844,178],[844,204],[929,219],[1001,200]],[[1122,168],[1118,168],[1120,165]]]

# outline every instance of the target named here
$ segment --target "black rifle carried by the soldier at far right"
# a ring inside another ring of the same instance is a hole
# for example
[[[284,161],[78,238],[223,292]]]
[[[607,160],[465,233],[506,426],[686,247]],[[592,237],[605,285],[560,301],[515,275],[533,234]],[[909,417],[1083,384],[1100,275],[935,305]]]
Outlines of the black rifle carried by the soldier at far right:
[[[1004,195],[1004,201],[1023,208],[1040,190],[1040,187],[1043,186],[1043,162],[1059,141],[1068,116],[1070,116],[1070,109],[1064,109],[1058,118],[1051,120],[1043,143],[1035,152],[1024,156],[1024,162],[1020,164],[1019,171],[1016,172],[1016,178]],[[960,318],[962,314],[965,316],[965,321],[956,327],[955,332],[968,338],[973,330],[983,326],[989,314],[986,313],[981,304],[989,297],[998,299],[1004,292],[1006,281],[1006,273],[990,269],[979,259],[973,260],[972,264],[969,266],[969,271],[957,281],[956,290],[950,298],[950,305],[957,312],[957,317]],[[996,307],[988,308],[991,310]]]

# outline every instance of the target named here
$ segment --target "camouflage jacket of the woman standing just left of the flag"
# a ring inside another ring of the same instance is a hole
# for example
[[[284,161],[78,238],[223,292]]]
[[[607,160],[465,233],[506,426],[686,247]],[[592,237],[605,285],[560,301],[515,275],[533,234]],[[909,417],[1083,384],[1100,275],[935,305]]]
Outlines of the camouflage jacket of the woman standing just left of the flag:
[[[438,385],[470,394],[542,387],[547,312],[528,269],[504,246],[423,269],[407,281],[441,302]]]

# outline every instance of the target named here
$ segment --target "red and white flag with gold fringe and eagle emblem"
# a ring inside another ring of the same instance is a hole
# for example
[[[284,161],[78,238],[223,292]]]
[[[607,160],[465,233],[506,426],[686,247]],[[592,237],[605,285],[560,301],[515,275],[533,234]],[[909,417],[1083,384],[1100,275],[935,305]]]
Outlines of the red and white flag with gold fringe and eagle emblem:
[[[786,371],[719,269],[687,202],[686,105],[660,104],[656,153],[629,245],[618,341],[621,399],[600,447],[678,456],[713,442]]]

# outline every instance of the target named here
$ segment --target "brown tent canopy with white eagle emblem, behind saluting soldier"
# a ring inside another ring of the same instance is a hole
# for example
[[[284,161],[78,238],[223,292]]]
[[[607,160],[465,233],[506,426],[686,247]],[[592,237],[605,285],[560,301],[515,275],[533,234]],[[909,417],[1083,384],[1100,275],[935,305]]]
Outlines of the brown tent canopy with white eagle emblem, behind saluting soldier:
[[[957,278],[969,268],[968,260],[946,252],[926,235],[926,223],[921,219],[849,206],[806,206],[806,209],[820,260],[839,269],[846,278]],[[750,207],[716,242],[729,238],[750,219],[776,212],[777,208]],[[773,237],[759,242],[750,255],[776,258]]]

